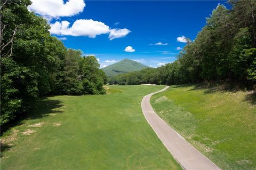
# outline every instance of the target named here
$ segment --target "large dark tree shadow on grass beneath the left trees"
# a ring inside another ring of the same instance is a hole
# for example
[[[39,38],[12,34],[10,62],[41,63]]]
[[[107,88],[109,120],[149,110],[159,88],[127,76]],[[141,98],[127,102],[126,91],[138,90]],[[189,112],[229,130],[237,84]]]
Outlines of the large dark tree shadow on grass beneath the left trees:
[[[62,102],[59,100],[49,100],[47,97],[38,100],[37,106],[27,114],[20,114],[19,117],[16,117],[10,123],[1,126],[1,136],[12,127],[24,124],[26,120],[39,119],[45,116],[49,116],[49,114],[61,114],[63,111],[58,109],[63,106],[61,103]]]

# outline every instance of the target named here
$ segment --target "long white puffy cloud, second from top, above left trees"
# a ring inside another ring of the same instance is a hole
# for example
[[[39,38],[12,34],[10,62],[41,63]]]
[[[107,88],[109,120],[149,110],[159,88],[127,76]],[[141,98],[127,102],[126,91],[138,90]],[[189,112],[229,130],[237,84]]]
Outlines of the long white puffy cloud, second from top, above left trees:
[[[79,19],[71,27],[69,25],[68,21],[57,21],[50,25],[51,29],[49,31],[55,35],[88,36],[90,38],[95,38],[101,34],[109,34],[110,40],[124,37],[131,32],[126,28],[109,29],[109,26],[105,25],[105,23],[92,19]]]

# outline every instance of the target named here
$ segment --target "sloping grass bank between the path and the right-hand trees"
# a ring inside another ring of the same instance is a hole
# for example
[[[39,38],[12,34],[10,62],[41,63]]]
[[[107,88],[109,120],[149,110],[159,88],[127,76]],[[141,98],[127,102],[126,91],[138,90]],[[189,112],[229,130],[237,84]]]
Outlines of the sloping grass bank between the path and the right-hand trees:
[[[252,92],[171,86],[156,94],[157,114],[222,169],[256,169]]]

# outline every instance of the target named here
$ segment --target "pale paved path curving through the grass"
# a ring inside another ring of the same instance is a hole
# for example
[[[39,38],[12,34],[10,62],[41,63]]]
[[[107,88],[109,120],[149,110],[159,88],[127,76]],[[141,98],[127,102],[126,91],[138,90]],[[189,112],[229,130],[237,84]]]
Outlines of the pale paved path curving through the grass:
[[[211,160],[206,158],[201,152],[188,143],[180,134],[174,131],[164,120],[162,120],[151,107],[150,97],[153,94],[165,91],[163,90],[144,96],[141,101],[141,108],[149,125],[154,129],[159,139],[163,142],[171,155],[180,163],[184,169],[210,170],[220,169]]]

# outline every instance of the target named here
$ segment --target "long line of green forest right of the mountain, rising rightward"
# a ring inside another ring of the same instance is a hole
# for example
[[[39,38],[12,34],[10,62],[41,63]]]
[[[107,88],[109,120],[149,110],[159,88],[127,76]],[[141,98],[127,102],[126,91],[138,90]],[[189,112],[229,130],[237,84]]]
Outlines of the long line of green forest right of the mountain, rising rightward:
[[[177,60],[159,68],[110,77],[109,84],[228,82],[252,88],[256,82],[256,1],[218,5],[196,39]],[[255,85],[254,85],[255,88]]]

